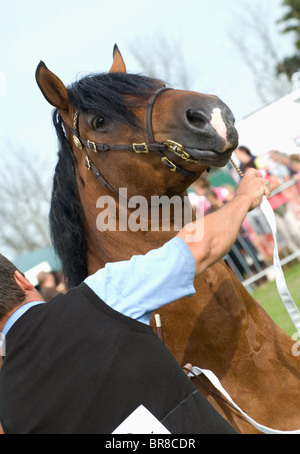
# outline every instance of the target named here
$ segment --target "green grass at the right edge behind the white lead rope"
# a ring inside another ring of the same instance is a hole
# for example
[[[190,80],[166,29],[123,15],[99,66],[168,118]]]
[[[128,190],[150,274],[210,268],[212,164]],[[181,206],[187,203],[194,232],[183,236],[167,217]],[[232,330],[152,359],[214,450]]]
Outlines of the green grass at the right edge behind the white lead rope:
[[[288,290],[300,309],[300,264],[285,268],[284,277]],[[275,281],[262,285],[252,293],[252,296],[286,333],[292,335],[296,332],[293,322],[278,294]]]

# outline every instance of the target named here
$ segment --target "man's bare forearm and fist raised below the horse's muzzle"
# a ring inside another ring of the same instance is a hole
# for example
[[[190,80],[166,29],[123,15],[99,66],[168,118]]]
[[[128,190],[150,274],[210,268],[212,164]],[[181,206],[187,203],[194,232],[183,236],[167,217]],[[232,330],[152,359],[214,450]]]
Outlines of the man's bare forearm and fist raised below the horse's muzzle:
[[[230,251],[248,211],[260,204],[263,195],[269,197],[270,194],[271,191],[261,173],[249,169],[232,201],[204,219],[187,225],[178,233],[195,258],[196,275]],[[201,222],[204,222],[202,229],[197,225]],[[197,231],[201,232],[201,238],[197,238]]]

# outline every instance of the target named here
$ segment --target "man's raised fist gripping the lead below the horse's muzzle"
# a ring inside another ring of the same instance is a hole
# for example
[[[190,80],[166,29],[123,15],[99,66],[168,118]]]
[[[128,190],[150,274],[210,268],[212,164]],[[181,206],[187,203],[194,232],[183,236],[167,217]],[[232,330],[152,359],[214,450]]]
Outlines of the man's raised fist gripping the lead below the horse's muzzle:
[[[236,192],[236,197],[247,199],[249,211],[260,205],[263,196],[267,198],[271,195],[270,183],[262,177],[256,169],[249,169],[242,178]]]

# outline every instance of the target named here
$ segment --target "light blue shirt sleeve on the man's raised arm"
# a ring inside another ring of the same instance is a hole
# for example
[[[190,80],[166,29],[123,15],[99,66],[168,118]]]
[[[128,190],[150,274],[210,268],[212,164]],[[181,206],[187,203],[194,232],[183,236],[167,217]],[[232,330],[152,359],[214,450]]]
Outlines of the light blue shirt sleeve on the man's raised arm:
[[[146,255],[108,263],[85,283],[111,308],[149,324],[153,311],[196,293],[195,259],[179,237]]]

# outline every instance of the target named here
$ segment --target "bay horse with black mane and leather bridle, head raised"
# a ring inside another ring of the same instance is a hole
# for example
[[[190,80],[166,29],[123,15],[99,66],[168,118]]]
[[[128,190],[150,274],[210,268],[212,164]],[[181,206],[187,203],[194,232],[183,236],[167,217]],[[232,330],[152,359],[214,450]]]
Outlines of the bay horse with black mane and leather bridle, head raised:
[[[117,46],[108,73],[66,88],[41,62],[36,79],[55,107],[60,149],[50,225],[69,287],[108,262],[145,254],[176,234],[172,210],[167,230],[160,219],[159,228],[124,231],[117,214],[116,230],[101,231],[99,197],[113,198],[120,208],[119,189],[126,188],[127,200],[177,195],[183,204],[187,188],[210,166],[224,166],[238,145],[233,114],[219,98],[128,74]],[[127,220],[132,212],[127,206]],[[194,296],[158,311],[165,344],[178,363],[212,370],[258,423],[299,429],[300,360],[292,354],[292,339],[223,260],[194,285]],[[151,325],[155,329],[153,319]],[[258,432],[200,379],[195,385],[238,433]]]

